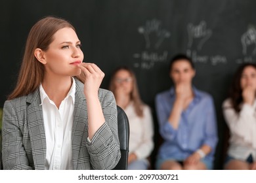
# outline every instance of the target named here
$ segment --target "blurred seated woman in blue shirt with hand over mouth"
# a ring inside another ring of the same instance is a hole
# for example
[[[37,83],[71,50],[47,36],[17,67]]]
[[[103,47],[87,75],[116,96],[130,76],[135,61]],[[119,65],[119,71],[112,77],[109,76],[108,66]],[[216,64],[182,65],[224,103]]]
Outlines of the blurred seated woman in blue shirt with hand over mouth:
[[[194,64],[184,54],[171,59],[174,87],[158,93],[156,112],[163,144],[157,169],[213,169],[217,123],[213,98],[192,86]]]

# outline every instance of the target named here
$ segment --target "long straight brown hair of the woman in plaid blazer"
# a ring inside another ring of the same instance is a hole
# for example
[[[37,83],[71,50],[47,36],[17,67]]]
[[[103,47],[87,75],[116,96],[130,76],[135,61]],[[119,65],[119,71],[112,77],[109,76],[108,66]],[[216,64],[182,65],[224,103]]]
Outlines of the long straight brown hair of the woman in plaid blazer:
[[[26,41],[16,87],[9,95],[8,99],[28,95],[28,93],[34,92],[39,87],[43,81],[45,67],[42,63],[37,61],[34,56],[34,51],[36,48],[47,51],[49,44],[53,42],[54,33],[64,27],[70,27],[75,31],[75,28],[70,22],[54,16],[42,18],[33,25]],[[77,78],[84,80],[84,75],[77,76]]]

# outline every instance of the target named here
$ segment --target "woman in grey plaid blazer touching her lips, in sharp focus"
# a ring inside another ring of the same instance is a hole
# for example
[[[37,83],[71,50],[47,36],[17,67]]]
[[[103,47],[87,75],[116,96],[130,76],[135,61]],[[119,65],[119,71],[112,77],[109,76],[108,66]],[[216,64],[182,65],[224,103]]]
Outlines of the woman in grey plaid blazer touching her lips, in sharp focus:
[[[3,108],[4,169],[112,169],[121,156],[112,92],[83,63],[74,27],[48,16],[28,35]]]

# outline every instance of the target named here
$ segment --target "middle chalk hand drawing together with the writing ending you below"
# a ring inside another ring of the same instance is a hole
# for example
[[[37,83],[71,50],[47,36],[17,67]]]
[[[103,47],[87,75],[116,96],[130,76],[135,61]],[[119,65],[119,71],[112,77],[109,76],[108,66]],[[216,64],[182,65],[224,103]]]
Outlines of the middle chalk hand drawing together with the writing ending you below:
[[[205,42],[210,41],[213,31],[207,28],[205,21],[201,21],[200,24],[194,25],[192,23],[187,25],[188,30],[188,49],[186,54],[192,58],[194,63],[210,63],[211,65],[225,64],[227,63],[226,56],[219,54],[214,56],[202,56],[198,54],[203,48]]]

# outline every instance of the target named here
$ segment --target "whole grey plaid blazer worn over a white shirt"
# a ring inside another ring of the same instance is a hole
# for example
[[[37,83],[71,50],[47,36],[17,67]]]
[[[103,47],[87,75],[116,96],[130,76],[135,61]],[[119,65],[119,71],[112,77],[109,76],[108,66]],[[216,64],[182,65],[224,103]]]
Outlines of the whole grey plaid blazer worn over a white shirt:
[[[74,169],[113,169],[121,157],[117,108],[112,92],[100,89],[98,98],[106,122],[87,141],[87,105],[83,83],[75,79],[72,154]],[[5,101],[3,108],[3,168],[45,169],[46,140],[39,89]]]

